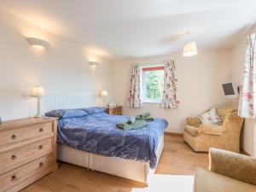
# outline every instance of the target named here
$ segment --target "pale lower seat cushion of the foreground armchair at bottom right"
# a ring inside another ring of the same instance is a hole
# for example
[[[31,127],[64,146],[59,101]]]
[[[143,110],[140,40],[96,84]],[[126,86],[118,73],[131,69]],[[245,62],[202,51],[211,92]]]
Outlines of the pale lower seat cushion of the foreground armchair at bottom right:
[[[253,192],[256,186],[202,168],[195,170],[194,192]]]

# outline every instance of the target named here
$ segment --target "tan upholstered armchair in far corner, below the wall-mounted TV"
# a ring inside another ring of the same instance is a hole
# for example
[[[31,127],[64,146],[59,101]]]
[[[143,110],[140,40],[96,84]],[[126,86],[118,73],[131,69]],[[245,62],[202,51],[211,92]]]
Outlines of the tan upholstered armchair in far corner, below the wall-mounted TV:
[[[187,118],[183,139],[191,148],[208,152],[209,148],[220,148],[240,152],[240,133],[244,119],[237,115],[234,108],[220,107],[217,113],[220,125],[203,125],[199,117]]]

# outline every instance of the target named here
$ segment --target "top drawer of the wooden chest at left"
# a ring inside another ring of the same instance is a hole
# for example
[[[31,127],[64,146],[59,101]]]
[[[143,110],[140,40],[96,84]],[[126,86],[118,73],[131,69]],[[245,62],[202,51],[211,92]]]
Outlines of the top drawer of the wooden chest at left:
[[[22,140],[52,133],[52,123],[33,125],[14,130],[0,130],[0,147],[5,144],[17,143]]]

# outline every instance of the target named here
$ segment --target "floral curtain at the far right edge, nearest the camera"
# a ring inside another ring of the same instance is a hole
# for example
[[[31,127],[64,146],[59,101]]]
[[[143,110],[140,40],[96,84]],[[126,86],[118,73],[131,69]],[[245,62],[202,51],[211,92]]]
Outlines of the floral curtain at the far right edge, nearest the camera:
[[[247,51],[238,114],[245,118],[256,117],[256,33],[247,36]]]

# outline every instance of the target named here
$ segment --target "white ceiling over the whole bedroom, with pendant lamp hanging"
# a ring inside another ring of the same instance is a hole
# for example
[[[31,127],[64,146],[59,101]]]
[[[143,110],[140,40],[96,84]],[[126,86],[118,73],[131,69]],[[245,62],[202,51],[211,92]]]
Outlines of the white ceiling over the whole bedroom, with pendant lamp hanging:
[[[256,0],[1,0],[0,7],[109,58],[236,43],[256,21]],[[184,35],[190,31],[189,35]]]

